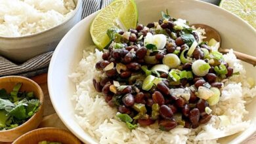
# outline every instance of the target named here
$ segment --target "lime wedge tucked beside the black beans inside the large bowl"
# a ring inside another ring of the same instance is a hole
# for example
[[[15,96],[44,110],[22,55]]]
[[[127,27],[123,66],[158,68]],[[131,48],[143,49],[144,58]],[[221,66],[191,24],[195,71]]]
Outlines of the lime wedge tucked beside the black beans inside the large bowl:
[[[102,50],[110,43],[106,31],[117,26],[121,29],[137,26],[138,12],[133,0],[116,0],[108,7],[100,10],[90,27],[91,37],[95,45]]]

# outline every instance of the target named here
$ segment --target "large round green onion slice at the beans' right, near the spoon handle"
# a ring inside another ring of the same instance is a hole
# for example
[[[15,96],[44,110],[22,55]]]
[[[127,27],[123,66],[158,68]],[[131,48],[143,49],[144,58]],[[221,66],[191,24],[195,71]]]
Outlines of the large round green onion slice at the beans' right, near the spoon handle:
[[[200,77],[205,76],[209,72],[209,69],[207,69],[208,66],[205,65],[205,64],[206,64],[206,62],[203,61],[203,60],[196,60],[195,62],[193,62],[192,63],[192,71],[193,71],[193,73],[195,75],[197,75],[197,76],[200,76]],[[202,66],[202,65],[205,65],[205,66]]]

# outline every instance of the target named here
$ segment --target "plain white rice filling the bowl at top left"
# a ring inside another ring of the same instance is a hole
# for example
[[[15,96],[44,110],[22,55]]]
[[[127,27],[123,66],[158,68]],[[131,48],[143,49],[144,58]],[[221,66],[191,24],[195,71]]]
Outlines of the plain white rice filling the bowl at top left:
[[[74,9],[73,0],[0,0],[0,36],[45,31],[68,19]]]

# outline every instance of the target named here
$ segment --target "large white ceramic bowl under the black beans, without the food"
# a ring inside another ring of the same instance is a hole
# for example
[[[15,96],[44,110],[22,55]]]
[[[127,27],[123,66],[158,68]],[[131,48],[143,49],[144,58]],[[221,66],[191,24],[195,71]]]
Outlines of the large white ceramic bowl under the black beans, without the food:
[[[256,56],[256,31],[246,24],[242,19],[234,16],[226,10],[214,5],[192,0],[155,0],[136,1],[139,9],[139,23],[157,21],[161,17],[161,10],[168,9],[169,14],[175,18],[184,18],[190,24],[207,24],[221,33],[222,46],[234,48],[240,52]],[[73,27],[57,46],[49,67],[49,93],[54,109],[61,120],[66,124],[81,141],[85,143],[96,143],[86,132],[75,122],[74,103],[70,100],[75,93],[75,84],[70,81],[68,75],[74,72],[77,63],[82,58],[83,50],[93,45],[89,33],[90,24],[96,13],[91,14],[75,27]],[[76,37],[76,39],[73,39]],[[256,79],[256,69],[251,65],[245,65],[249,75]],[[88,67],[90,68],[90,67]],[[221,143],[241,143],[256,130],[256,99],[249,105],[247,119],[251,120],[251,126],[244,132],[230,137],[225,137]]]

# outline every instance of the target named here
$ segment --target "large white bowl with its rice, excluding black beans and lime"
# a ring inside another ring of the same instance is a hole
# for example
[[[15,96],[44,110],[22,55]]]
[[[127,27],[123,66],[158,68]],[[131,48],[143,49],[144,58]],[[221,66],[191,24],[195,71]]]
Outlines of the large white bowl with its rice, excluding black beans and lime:
[[[223,48],[233,48],[256,56],[256,31],[242,19],[226,10],[200,1],[140,0],[136,1],[139,23],[159,20],[168,9],[174,18],[190,24],[206,24],[219,31]],[[179,5],[179,7],[177,7]],[[216,115],[226,115],[230,124],[221,126],[213,117],[196,129],[175,128],[163,132],[148,126],[129,130],[115,118],[116,110],[109,107],[95,91],[93,77],[98,75],[95,63],[102,52],[95,51],[89,33],[90,22],[97,12],[73,27],[57,46],[49,67],[49,94],[54,109],[73,134],[84,143],[242,143],[256,130],[256,87],[252,79],[256,69],[237,60],[230,52],[225,61],[239,76],[225,82],[221,101],[213,109]],[[73,37],[77,39],[72,39]],[[61,71],[61,73],[60,73]],[[248,79],[248,77],[251,77]]]

